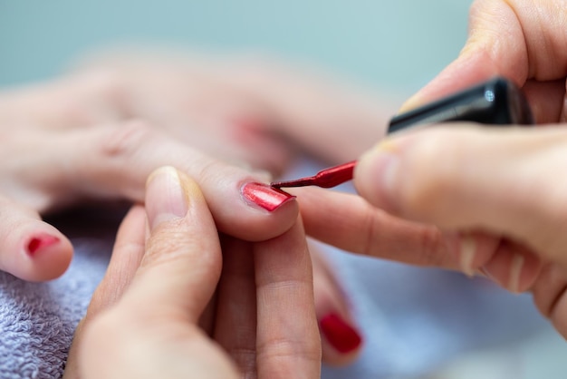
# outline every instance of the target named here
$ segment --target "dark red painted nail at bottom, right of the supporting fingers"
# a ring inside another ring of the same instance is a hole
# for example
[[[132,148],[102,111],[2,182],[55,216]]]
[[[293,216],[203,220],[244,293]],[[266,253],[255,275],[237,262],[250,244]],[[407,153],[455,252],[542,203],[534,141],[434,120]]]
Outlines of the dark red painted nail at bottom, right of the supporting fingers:
[[[329,343],[342,354],[356,350],[362,343],[362,338],[352,326],[347,324],[341,316],[331,314],[322,317],[319,321],[322,334]]]

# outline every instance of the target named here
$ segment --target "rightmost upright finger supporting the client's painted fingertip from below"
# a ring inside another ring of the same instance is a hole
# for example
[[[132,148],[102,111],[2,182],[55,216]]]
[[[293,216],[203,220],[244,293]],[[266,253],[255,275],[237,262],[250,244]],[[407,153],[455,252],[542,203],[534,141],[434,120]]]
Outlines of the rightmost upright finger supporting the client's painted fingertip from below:
[[[258,377],[320,377],[321,340],[301,220],[282,236],[255,243],[254,258]]]

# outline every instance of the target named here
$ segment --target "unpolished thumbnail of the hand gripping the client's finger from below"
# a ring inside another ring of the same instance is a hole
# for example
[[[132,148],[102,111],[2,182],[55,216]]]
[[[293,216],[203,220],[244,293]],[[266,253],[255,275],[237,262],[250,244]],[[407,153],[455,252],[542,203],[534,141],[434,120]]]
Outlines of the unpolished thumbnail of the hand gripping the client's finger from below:
[[[146,211],[149,228],[187,215],[188,201],[181,187],[178,170],[166,166],[149,175],[146,185]]]

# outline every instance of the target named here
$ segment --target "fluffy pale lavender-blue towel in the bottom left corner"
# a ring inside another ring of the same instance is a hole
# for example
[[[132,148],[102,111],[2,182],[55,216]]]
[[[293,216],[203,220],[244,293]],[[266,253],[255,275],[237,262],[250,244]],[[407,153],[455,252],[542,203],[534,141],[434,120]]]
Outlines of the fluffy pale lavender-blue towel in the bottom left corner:
[[[0,378],[62,376],[75,326],[101,281],[111,244],[72,240],[70,269],[48,283],[27,283],[0,273]]]

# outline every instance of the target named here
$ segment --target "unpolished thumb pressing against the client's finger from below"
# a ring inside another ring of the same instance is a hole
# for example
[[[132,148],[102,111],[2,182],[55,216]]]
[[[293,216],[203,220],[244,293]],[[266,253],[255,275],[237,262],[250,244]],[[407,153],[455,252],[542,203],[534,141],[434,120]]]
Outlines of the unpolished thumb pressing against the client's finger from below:
[[[140,315],[177,316],[197,324],[221,268],[218,235],[207,202],[196,182],[164,167],[149,177],[146,209],[150,229],[146,252],[123,299]]]

